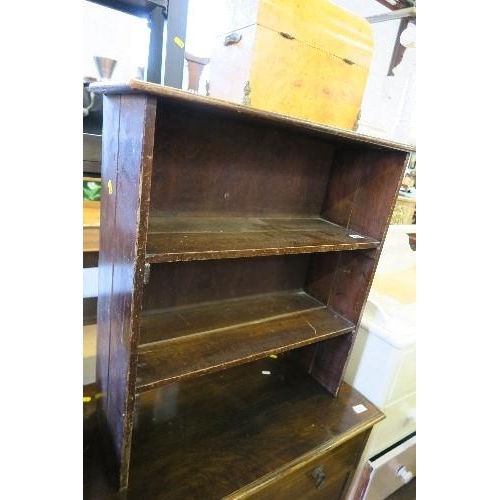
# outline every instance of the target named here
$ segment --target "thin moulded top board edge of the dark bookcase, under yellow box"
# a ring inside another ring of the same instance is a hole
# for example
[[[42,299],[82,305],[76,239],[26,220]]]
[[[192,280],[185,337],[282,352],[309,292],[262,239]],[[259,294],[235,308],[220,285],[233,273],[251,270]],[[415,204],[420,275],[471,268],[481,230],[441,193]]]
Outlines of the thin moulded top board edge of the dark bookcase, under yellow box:
[[[411,144],[404,144],[378,137],[371,137],[364,134],[359,134],[352,130],[340,129],[329,127],[319,123],[314,123],[301,118],[295,118],[280,113],[270,111],[263,111],[256,108],[251,108],[241,104],[234,104],[232,102],[216,99],[214,97],[207,97],[184,90],[175,89],[166,85],[157,83],[145,82],[142,80],[129,80],[128,82],[95,82],[90,84],[89,89],[93,92],[103,94],[130,94],[139,93],[147,94],[153,97],[168,98],[174,101],[181,101],[185,104],[201,107],[204,110],[212,110],[225,112],[233,116],[240,116],[242,118],[258,120],[260,122],[267,122],[274,126],[283,126],[293,129],[301,129],[309,133],[313,133],[319,137],[338,138],[346,142],[353,142],[356,144],[365,143],[367,145],[382,147],[389,150],[414,152],[415,146]]]

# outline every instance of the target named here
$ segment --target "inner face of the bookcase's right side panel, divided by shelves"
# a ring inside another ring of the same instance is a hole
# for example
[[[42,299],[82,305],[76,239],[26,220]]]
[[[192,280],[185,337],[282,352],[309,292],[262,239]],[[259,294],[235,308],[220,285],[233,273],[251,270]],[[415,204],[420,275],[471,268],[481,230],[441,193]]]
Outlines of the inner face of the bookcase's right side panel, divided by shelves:
[[[322,217],[383,243],[408,159],[408,153],[367,147],[337,150]],[[327,299],[329,307],[358,327],[381,251],[379,245],[338,257],[317,256],[308,275],[312,295]],[[334,395],[354,338],[355,333],[300,353],[301,363]]]

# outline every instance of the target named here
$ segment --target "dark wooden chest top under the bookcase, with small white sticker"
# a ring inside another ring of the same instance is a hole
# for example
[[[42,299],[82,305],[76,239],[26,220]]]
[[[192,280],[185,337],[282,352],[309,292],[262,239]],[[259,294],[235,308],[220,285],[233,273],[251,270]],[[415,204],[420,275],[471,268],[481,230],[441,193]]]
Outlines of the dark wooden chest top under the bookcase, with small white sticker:
[[[286,358],[139,394],[128,498],[246,494],[383,418],[350,386],[332,398]]]

